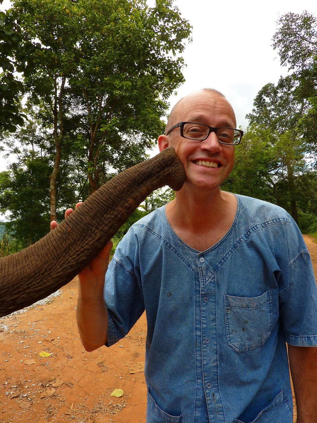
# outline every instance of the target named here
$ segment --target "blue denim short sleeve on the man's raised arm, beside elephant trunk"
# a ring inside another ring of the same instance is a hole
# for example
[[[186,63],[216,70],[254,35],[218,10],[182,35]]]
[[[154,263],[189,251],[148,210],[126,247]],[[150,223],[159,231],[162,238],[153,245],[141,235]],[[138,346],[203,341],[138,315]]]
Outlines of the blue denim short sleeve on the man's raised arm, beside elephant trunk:
[[[124,338],[145,310],[142,286],[134,272],[137,240],[127,233],[109,264],[104,285],[111,346]]]

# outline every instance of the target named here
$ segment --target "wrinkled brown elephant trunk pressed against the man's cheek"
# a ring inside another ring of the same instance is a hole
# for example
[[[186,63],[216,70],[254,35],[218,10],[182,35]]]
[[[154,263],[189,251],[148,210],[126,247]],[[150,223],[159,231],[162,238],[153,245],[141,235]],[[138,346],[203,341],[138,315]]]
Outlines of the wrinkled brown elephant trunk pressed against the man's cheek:
[[[105,247],[145,198],[169,185],[178,191],[183,166],[172,147],[111,179],[54,231],[0,259],[0,317],[70,282]]]

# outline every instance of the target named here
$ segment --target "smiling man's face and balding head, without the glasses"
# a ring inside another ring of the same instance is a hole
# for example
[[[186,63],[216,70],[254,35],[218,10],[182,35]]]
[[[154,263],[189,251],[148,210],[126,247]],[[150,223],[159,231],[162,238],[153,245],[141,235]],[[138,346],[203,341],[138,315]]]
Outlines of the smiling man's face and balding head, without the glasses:
[[[182,121],[213,127],[236,126],[235,114],[230,103],[217,93],[205,91],[184,98],[175,111],[169,127]],[[219,188],[234,165],[235,147],[220,144],[214,132],[211,132],[206,140],[197,141],[181,137],[180,129],[176,128],[168,136],[161,135],[158,144],[161,150],[167,145],[175,148],[186,172],[185,184],[194,187],[195,190]]]

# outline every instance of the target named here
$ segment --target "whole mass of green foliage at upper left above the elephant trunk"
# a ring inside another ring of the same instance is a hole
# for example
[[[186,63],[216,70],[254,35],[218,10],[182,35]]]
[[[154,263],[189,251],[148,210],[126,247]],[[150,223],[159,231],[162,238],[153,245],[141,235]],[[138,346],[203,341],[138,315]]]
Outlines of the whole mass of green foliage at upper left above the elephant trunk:
[[[190,29],[172,0],[153,8],[145,0],[16,0],[1,14],[0,92],[3,110],[11,107],[16,116],[0,111],[3,129],[23,125],[25,94],[25,116],[38,138],[33,146],[51,170],[45,176],[51,219],[62,218],[67,201],[85,199],[110,173],[147,158],[145,149],[164,129],[167,98],[184,80],[181,53]],[[30,135],[29,123],[19,142]],[[2,148],[19,154],[8,133]],[[17,210],[18,202],[12,204]]]

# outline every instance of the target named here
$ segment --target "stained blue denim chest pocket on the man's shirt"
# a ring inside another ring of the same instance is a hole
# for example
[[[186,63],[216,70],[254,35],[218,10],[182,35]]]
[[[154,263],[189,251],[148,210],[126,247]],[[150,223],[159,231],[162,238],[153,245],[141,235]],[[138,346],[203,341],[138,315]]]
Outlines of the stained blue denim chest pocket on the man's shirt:
[[[228,344],[235,351],[250,351],[265,343],[272,330],[272,291],[260,297],[224,296]]]

